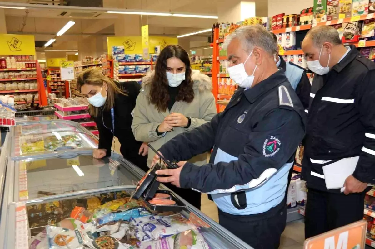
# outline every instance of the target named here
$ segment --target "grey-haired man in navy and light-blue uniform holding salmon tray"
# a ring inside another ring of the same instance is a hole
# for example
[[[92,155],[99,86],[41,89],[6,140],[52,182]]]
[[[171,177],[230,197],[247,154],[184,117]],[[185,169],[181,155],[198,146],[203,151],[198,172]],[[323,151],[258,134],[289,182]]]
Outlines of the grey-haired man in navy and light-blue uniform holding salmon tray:
[[[157,180],[210,194],[223,227],[255,249],[277,249],[286,223],[288,172],[305,136],[305,111],[276,67],[269,31],[242,27],[225,43],[229,76],[239,90],[225,111],[160,148],[180,167],[158,170],[166,177]],[[183,162],[212,148],[206,165]]]

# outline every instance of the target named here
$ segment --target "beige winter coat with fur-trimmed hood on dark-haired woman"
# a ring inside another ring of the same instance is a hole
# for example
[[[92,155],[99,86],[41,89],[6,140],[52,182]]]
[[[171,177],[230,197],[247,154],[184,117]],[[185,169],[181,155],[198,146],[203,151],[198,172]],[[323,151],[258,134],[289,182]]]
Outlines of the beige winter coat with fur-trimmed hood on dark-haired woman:
[[[159,150],[163,144],[176,135],[189,132],[209,122],[216,115],[215,98],[211,93],[212,82],[205,74],[199,73],[198,70],[193,70],[192,72],[194,99],[191,103],[176,101],[170,112],[167,108],[163,113],[160,113],[153,104],[148,102],[152,77],[153,73],[143,77],[141,93],[138,95],[135,104],[132,130],[137,141],[148,142],[156,150]],[[185,117],[190,117],[191,124],[189,128],[174,127],[173,130],[167,132],[164,137],[158,136],[156,127],[172,112],[181,113]],[[154,155],[155,153],[152,150],[148,150],[147,165],[149,167]],[[190,159],[189,162],[199,166],[204,165],[207,163],[207,154],[195,156]]]

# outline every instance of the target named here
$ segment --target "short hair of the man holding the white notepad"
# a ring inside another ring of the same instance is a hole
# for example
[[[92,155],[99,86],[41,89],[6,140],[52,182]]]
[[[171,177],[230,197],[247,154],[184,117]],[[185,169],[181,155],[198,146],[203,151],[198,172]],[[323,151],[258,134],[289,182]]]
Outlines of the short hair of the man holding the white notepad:
[[[309,30],[306,37],[310,37],[315,47],[323,46],[323,43],[329,42],[333,45],[342,44],[339,32],[332,26],[316,26]]]

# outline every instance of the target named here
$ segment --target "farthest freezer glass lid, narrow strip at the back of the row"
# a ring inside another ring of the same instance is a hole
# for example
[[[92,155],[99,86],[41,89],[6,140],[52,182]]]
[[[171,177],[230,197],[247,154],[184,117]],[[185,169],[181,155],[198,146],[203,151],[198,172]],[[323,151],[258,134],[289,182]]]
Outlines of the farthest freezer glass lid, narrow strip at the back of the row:
[[[18,136],[37,134],[41,132],[52,132],[52,131],[77,131],[80,130],[74,123],[51,120],[41,122],[26,122],[24,124],[17,125],[16,134]]]

